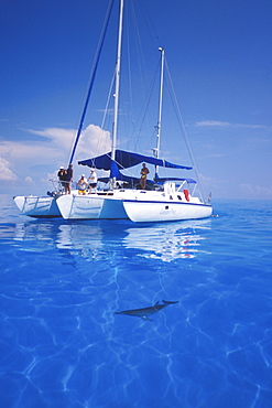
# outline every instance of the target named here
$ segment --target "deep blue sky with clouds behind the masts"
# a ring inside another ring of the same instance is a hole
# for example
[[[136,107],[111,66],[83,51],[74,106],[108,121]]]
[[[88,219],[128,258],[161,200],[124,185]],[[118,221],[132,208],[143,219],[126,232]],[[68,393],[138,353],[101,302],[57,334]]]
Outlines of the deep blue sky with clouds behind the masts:
[[[157,47],[163,46],[206,193],[211,189],[218,198],[271,200],[272,2],[133,0],[133,4],[143,51],[146,45],[144,75],[152,78]],[[108,0],[1,0],[1,192],[43,194],[51,187],[47,180],[68,163],[107,7]],[[131,9],[131,0],[126,7]],[[101,119],[113,74],[117,9],[116,4],[76,160],[110,146],[110,120],[101,129]],[[140,89],[137,63],[131,60],[131,65]],[[137,114],[132,107],[134,116],[124,115],[130,97],[122,85],[121,147],[132,148],[129,120],[135,121]],[[140,105],[139,89],[132,106]],[[191,164],[184,149],[177,148],[172,116],[165,108],[164,157]],[[151,128],[155,120],[155,115],[150,117]],[[137,149],[150,153],[154,131],[142,133],[144,142],[141,146],[139,139]],[[75,179],[81,172],[75,164]]]

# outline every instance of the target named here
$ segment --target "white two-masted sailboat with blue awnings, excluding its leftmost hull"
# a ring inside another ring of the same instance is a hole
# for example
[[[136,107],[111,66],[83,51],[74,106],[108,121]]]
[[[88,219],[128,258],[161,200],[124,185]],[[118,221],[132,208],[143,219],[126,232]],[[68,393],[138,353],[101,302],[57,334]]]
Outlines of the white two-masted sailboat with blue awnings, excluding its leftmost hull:
[[[194,195],[196,181],[189,178],[160,178],[159,168],[192,170],[192,167],[174,164],[160,159],[161,117],[163,99],[163,74],[165,52],[161,52],[161,80],[157,115],[157,143],[154,157],[117,149],[117,122],[120,84],[121,42],[122,42],[123,0],[120,0],[118,53],[116,64],[115,119],[111,152],[81,160],[78,164],[110,171],[109,178],[100,179],[110,182],[109,191],[96,194],[62,195],[57,206],[65,219],[118,219],[130,218],[132,222],[166,222],[194,218],[206,218],[211,215],[210,203]],[[124,175],[121,170],[130,169],[139,163],[155,167],[155,176],[148,180],[148,189],[139,189],[139,179]],[[117,187],[120,184],[121,187]],[[129,187],[128,187],[129,186]]]

